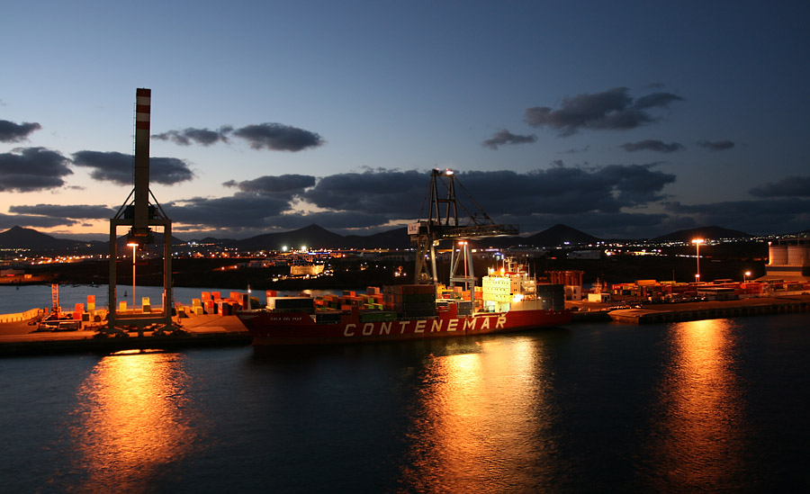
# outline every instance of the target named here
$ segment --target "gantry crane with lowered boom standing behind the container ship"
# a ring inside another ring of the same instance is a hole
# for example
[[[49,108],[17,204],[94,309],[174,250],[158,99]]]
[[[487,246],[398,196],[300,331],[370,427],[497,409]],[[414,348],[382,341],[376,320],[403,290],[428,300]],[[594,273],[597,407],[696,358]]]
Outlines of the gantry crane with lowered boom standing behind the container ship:
[[[470,246],[467,240],[472,238],[501,237],[507,235],[518,235],[517,225],[500,225],[491,220],[490,216],[484,212],[481,206],[476,203],[469,193],[468,199],[478,209],[470,213],[464,208],[464,204],[459,202],[456,193],[456,176],[453,170],[434,169],[430,178],[430,189],[428,191],[428,216],[427,220],[419,220],[408,226],[408,234],[411,243],[417,247],[415,283],[437,284],[436,270],[436,247],[442,240],[460,241],[460,248],[456,256],[455,246],[451,250],[450,258],[450,286],[456,282],[464,283],[465,289],[469,289],[475,283],[473,273],[473,256],[470,253]],[[444,188],[440,191],[439,187]],[[459,185],[461,185],[459,183]],[[461,185],[464,190],[464,185]],[[446,196],[440,197],[440,195]],[[464,192],[466,192],[464,190]],[[467,215],[465,220],[469,222],[462,224],[459,221],[459,209],[464,210]],[[423,208],[424,212],[424,208]],[[428,260],[430,270],[428,271]],[[458,275],[460,264],[464,261],[464,275]]]

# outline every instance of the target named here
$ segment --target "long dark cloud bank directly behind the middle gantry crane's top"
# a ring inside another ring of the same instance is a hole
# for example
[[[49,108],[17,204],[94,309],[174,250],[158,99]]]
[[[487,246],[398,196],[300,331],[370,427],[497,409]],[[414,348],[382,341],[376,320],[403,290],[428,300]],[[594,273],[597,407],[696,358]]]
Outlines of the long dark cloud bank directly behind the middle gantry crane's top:
[[[523,174],[457,172],[461,186],[456,188],[456,198],[468,215],[479,211],[475,202],[490,216],[512,214],[516,209],[555,214],[615,212],[664,198],[662,188],[674,182],[675,175],[654,171],[654,166],[612,165],[592,171],[554,166]],[[429,180],[430,175],[416,170],[330,175],[302,198],[326,210],[373,211],[392,219],[414,218],[422,211],[427,217]],[[446,185],[439,188],[446,197]],[[459,211],[461,217],[464,211]]]

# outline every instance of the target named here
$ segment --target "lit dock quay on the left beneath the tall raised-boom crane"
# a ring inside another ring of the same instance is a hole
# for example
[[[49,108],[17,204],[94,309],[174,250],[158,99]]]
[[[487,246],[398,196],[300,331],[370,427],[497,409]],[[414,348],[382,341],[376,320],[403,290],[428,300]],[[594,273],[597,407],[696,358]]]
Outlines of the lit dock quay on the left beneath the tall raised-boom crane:
[[[247,346],[252,337],[236,316],[191,315],[175,319],[175,334],[143,337],[100,337],[93,325],[78,331],[36,331],[28,320],[0,324],[0,357],[12,355],[53,355],[77,353],[112,354],[127,350],[167,350],[202,346]]]

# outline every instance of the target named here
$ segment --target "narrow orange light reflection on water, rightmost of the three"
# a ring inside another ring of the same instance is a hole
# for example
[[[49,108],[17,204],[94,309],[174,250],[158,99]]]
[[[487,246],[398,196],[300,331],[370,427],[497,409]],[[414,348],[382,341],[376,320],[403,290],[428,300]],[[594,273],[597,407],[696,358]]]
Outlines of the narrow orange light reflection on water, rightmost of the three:
[[[650,474],[656,490],[725,490],[744,473],[744,401],[732,319],[673,324],[655,404]]]

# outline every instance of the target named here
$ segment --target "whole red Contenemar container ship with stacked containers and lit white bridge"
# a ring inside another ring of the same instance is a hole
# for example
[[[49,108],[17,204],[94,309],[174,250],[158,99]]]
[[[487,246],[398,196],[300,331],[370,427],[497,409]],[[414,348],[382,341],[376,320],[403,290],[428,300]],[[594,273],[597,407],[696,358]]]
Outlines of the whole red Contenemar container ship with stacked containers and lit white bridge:
[[[462,337],[560,326],[571,322],[562,284],[536,283],[522,266],[509,264],[482,276],[473,292],[435,284],[369,287],[313,298],[276,297],[238,318],[254,346],[335,345]],[[512,270],[512,271],[510,271]]]

